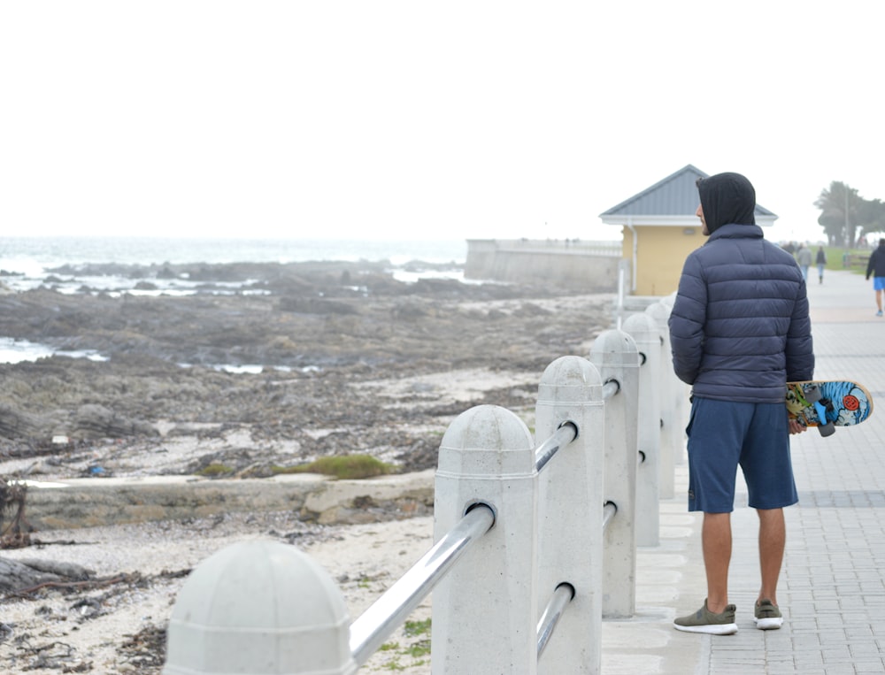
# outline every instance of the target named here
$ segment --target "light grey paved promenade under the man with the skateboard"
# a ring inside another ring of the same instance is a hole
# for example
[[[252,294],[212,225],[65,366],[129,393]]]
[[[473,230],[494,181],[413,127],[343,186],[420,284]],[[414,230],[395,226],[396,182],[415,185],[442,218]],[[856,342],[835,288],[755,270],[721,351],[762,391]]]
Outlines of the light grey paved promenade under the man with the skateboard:
[[[661,544],[640,549],[637,616],[604,622],[604,675],[885,672],[885,318],[875,316],[872,282],[862,275],[827,272],[823,284],[812,277],[808,294],[815,377],[866,384],[880,410],[829,438],[813,429],[793,437],[799,503],[785,511],[783,627],[753,625],[757,517],[740,483],[729,576],[739,631],[708,636],[671,627],[705,594],[701,518],[685,510],[682,463],[676,497],[661,502]]]

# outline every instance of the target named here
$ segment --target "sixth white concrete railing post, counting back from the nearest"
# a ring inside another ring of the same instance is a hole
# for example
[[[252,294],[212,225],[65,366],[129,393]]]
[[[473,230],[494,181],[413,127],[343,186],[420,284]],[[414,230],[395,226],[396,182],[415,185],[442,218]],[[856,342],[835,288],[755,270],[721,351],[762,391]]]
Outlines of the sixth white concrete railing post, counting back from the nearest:
[[[661,499],[673,499],[675,475],[673,473],[675,457],[679,452],[682,430],[676,428],[676,373],[670,355],[670,328],[667,318],[670,309],[666,304],[657,302],[645,308],[645,313],[654,319],[661,335],[661,351],[658,367],[658,392],[661,406],[661,462],[659,480],[659,496]],[[677,380],[678,381],[678,380]]]

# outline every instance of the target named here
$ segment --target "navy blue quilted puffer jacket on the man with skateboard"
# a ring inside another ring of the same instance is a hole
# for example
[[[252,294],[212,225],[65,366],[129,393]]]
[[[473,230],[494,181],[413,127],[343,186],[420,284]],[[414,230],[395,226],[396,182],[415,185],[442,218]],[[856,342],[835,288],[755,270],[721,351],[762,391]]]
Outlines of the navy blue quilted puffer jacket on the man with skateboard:
[[[812,379],[802,272],[757,225],[717,226],[689,254],[669,325],[673,368],[696,396],[781,403],[788,381]]]

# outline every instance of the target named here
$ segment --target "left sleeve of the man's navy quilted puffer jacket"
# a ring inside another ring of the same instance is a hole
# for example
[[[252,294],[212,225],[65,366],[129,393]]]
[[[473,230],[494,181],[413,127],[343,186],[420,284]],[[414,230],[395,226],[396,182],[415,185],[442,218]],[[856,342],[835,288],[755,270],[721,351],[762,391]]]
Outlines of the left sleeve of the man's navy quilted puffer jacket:
[[[688,384],[694,383],[704,355],[706,311],[707,285],[696,256],[690,255],[682,267],[679,293],[669,318],[673,370]]]

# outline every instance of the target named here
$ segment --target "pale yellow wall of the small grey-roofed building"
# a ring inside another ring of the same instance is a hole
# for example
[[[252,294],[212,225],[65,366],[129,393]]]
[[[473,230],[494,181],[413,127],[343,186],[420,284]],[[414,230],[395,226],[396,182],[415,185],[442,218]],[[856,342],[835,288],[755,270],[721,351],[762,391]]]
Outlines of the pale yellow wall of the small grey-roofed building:
[[[700,226],[634,226],[636,289],[634,295],[670,295],[679,287],[685,257],[707,241]],[[693,234],[684,234],[691,230]],[[624,227],[623,257],[633,261],[633,232]]]

